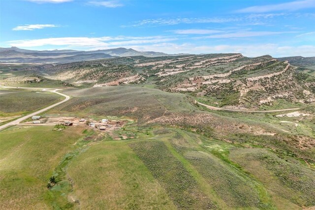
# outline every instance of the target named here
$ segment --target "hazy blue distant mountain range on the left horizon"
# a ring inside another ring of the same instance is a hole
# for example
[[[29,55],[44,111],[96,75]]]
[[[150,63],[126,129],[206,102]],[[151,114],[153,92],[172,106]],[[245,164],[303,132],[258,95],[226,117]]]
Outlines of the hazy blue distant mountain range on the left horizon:
[[[94,50],[94,51],[77,51],[77,50],[26,50],[18,47],[3,48],[0,47],[0,62],[11,63],[71,63],[78,61],[89,61],[103,58],[128,57],[128,56],[145,56],[158,57],[167,54],[151,51],[137,51],[123,47]]]

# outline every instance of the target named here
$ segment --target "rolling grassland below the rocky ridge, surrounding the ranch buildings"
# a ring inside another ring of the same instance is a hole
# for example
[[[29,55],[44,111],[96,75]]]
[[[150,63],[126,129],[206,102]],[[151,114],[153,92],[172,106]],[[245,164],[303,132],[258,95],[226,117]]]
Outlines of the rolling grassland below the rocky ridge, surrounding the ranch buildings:
[[[105,131],[85,123],[0,131],[0,209],[315,206],[312,105],[299,110],[304,115],[243,113],[144,87],[63,93],[71,99],[43,113],[51,122],[125,123]]]

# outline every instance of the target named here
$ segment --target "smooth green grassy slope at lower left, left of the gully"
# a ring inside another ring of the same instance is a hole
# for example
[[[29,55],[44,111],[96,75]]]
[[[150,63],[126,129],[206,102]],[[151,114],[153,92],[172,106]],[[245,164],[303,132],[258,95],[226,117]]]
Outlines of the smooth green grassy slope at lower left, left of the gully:
[[[47,181],[82,136],[78,128],[13,127],[0,132],[0,209],[51,209]],[[63,198],[63,203],[67,203]]]

